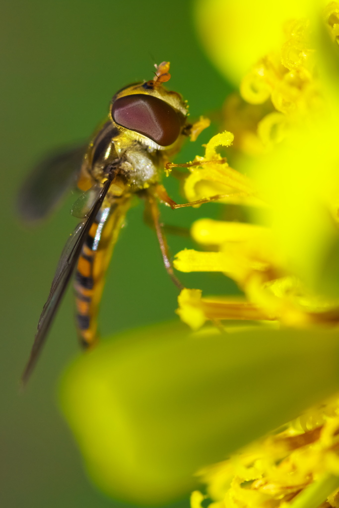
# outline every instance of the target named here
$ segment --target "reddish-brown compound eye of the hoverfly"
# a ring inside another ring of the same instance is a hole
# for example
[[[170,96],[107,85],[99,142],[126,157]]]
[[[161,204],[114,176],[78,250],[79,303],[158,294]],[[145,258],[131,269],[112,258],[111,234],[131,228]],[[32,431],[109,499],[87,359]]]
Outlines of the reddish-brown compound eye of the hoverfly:
[[[171,145],[180,134],[181,122],[176,111],[167,102],[144,93],[117,99],[111,113],[118,125],[161,146]]]

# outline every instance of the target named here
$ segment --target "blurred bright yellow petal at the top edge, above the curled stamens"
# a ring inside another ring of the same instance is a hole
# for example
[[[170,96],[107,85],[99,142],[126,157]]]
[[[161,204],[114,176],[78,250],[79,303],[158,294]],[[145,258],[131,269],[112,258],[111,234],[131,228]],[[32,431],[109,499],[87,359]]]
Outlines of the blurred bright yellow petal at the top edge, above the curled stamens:
[[[291,18],[319,13],[317,0],[197,0],[196,23],[207,54],[218,69],[238,84],[265,54],[284,42],[283,26]]]

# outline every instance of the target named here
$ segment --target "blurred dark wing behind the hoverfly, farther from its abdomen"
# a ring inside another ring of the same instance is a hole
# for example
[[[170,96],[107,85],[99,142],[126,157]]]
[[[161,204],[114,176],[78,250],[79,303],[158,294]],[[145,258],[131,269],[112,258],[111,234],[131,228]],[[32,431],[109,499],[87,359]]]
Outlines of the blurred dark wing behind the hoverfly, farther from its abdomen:
[[[61,197],[76,184],[87,145],[58,150],[44,158],[22,185],[17,208],[21,218],[34,222],[55,208]]]

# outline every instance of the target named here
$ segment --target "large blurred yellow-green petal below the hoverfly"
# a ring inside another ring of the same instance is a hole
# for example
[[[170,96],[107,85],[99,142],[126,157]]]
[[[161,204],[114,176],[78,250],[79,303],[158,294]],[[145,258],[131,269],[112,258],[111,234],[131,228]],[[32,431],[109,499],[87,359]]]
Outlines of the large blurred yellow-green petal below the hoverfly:
[[[166,503],[194,473],[339,390],[337,334],[190,336],[177,324],[103,341],[64,375],[61,406],[93,481]]]

